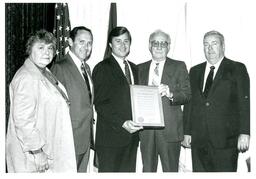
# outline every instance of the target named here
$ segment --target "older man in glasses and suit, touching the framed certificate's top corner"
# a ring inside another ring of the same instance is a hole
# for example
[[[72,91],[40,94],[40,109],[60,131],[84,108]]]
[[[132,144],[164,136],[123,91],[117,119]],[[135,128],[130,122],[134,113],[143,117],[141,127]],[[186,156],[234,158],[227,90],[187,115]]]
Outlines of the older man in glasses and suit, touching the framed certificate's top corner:
[[[163,128],[140,131],[143,172],[156,172],[158,156],[164,172],[178,172],[183,118],[181,105],[191,97],[186,65],[167,57],[170,36],[157,30],[149,37],[152,60],[139,65],[139,84],[159,87],[164,114]]]

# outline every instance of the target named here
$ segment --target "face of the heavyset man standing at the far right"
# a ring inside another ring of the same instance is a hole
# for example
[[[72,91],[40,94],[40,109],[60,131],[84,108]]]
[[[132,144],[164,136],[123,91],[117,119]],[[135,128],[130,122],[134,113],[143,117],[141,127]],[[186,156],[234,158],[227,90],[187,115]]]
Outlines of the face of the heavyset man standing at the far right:
[[[204,39],[204,54],[207,61],[214,65],[224,57],[224,44],[218,35],[210,35]]]

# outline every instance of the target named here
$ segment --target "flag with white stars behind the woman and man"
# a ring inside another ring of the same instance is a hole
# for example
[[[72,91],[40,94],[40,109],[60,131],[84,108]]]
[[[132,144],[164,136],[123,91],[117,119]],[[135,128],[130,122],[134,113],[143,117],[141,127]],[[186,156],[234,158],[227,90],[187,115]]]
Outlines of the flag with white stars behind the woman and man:
[[[68,38],[71,30],[68,4],[56,3],[54,15],[53,34],[57,39],[56,44],[56,61],[60,61],[68,52]]]

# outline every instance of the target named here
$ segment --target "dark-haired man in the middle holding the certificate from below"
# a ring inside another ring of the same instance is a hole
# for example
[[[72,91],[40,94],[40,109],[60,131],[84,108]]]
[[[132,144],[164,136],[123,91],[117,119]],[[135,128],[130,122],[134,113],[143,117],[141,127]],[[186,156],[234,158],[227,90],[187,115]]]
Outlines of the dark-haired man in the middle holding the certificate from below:
[[[132,121],[130,84],[137,83],[136,65],[127,61],[131,35],[114,28],[108,38],[112,55],[98,63],[92,74],[97,111],[96,152],[99,172],[135,172],[138,130]]]

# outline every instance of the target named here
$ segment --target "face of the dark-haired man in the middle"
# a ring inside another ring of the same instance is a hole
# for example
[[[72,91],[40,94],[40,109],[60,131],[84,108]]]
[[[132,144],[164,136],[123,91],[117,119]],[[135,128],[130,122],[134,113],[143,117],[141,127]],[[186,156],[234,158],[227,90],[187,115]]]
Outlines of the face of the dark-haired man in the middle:
[[[126,57],[130,52],[131,46],[131,41],[128,33],[113,37],[109,45],[112,48],[112,53],[114,55],[120,58]]]

